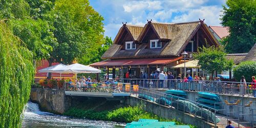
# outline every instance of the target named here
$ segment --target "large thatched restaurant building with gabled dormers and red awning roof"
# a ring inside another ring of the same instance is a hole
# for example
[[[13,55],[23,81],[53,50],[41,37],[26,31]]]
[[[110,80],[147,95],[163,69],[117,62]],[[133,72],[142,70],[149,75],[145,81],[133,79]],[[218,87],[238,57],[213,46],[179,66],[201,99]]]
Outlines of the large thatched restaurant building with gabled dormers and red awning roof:
[[[189,60],[192,53],[206,45],[218,46],[220,42],[203,20],[175,24],[148,21],[145,26],[123,24],[113,45],[101,57],[106,60],[91,66],[108,72],[112,68],[113,78],[115,70],[118,73],[121,71],[121,76],[129,72],[131,76],[139,78],[141,71],[150,74],[155,70],[164,71],[179,65],[184,62],[181,61],[183,51],[188,53],[186,59]],[[194,71],[190,72],[192,76]],[[173,72],[182,74],[181,69]]]

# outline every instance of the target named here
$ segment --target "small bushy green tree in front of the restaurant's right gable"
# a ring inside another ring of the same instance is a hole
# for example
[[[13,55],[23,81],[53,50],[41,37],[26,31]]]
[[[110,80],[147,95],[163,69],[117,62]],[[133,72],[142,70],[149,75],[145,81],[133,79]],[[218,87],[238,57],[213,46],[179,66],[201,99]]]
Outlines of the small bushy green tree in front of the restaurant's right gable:
[[[214,75],[214,71],[221,72],[230,70],[233,67],[233,61],[225,58],[226,53],[222,46],[203,46],[199,48],[199,52],[193,56],[198,59],[198,65],[201,69]]]

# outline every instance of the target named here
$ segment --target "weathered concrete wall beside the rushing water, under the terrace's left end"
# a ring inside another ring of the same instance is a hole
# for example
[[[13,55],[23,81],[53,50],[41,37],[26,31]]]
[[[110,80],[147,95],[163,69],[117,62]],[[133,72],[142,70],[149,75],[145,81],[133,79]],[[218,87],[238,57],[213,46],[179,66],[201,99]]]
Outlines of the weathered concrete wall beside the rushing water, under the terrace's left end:
[[[71,106],[71,97],[63,90],[31,89],[30,100],[39,104],[41,111],[55,114],[64,113]]]

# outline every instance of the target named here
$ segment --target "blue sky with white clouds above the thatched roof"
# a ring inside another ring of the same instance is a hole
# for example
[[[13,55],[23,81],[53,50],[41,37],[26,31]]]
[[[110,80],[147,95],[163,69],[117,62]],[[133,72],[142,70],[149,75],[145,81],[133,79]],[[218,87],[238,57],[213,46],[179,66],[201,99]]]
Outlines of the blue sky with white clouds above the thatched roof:
[[[225,0],[90,0],[90,4],[104,17],[104,35],[114,40],[122,22],[144,26],[147,19],[180,23],[201,18],[208,26],[220,26]]]

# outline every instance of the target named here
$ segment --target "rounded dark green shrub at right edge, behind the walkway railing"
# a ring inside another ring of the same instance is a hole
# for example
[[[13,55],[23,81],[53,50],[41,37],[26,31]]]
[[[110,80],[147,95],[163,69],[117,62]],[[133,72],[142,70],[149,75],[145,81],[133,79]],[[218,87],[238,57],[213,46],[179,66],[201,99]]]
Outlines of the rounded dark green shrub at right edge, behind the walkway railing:
[[[234,78],[240,81],[241,76],[245,77],[246,82],[251,82],[251,76],[256,75],[256,61],[244,61],[241,62],[233,70]]]

